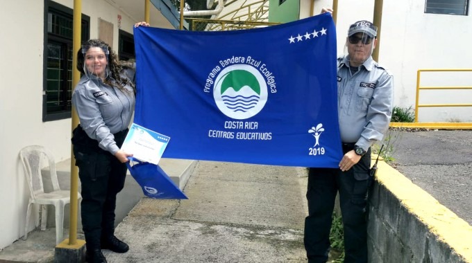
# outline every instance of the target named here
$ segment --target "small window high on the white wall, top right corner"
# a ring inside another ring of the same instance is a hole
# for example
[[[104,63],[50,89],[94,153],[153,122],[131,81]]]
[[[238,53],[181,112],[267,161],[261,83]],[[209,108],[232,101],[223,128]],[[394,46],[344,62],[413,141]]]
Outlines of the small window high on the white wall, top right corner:
[[[425,13],[469,15],[469,0],[425,0]]]

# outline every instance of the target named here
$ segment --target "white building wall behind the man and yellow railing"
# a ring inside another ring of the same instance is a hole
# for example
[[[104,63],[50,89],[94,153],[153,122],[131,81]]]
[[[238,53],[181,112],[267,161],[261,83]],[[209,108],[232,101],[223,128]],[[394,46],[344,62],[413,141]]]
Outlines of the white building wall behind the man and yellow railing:
[[[310,1],[301,0],[301,17],[310,15]],[[314,3],[315,15],[332,5],[331,0]],[[338,53],[343,53],[350,24],[373,20],[373,4],[373,0],[338,1]],[[414,107],[418,69],[472,69],[472,10],[469,16],[434,15],[425,14],[424,8],[425,1],[383,1],[379,62],[394,74],[394,105],[398,107]],[[421,86],[472,87],[472,73],[422,73]],[[419,98],[420,104],[472,104],[472,90],[421,91]],[[472,122],[471,107],[419,109],[421,122],[453,119]]]

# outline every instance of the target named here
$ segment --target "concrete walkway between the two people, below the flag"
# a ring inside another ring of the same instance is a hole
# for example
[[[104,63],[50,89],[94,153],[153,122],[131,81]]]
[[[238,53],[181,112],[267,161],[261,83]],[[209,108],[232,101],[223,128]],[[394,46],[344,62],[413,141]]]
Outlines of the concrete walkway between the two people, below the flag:
[[[109,262],[306,262],[303,168],[201,161],[188,200],[142,199]]]

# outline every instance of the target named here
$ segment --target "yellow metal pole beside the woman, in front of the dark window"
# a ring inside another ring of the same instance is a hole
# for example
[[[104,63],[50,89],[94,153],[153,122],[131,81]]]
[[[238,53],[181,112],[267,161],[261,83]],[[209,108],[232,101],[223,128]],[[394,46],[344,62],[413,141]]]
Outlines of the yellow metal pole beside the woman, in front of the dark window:
[[[73,32],[74,37],[72,38],[72,89],[76,87],[78,80],[81,78],[81,73],[76,69],[77,64],[77,51],[81,48],[81,24],[82,24],[82,0],[74,0],[74,21],[73,21]],[[77,113],[72,107],[72,126],[71,131],[78,125]],[[72,134],[72,132],[71,132]],[[71,151],[71,203],[70,203],[70,220],[69,220],[69,245],[75,245],[77,243],[77,192],[78,192],[78,169],[76,167],[76,160],[74,154]]]

